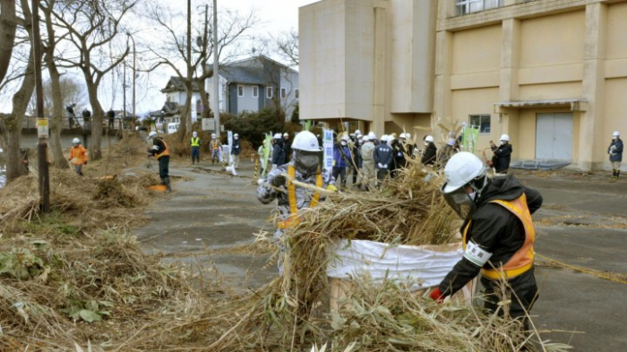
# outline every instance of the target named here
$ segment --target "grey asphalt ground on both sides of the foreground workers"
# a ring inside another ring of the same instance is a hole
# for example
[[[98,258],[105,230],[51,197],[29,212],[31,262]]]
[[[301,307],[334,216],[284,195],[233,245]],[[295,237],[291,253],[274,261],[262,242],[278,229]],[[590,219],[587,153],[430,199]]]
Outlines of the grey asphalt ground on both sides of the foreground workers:
[[[277,275],[269,254],[231,252],[252,244],[254,233],[273,232],[266,223],[274,205],[255,196],[253,165],[243,159],[239,176],[220,173],[207,161],[170,166],[174,192],[147,210],[148,224],[133,230],[146,252],[166,260],[215,265],[226,282],[242,289],[260,287]],[[627,278],[627,177],[606,173],[513,170],[523,184],[543,194],[536,251],[593,273]],[[349,178],[350,185],[350,178]],[[545,262],[545,261],[542,261]],[[545,340],[576,351],[627,348],[627,285],[571,269],[537,267],[540,296],[531,314]],[[620,278],[620,277],[619,277]]]

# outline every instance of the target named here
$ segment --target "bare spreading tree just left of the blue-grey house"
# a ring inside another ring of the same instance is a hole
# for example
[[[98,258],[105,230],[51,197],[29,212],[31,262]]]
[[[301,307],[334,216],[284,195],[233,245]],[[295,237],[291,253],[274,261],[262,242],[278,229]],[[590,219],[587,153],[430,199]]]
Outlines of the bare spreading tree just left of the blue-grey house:
[[[180,22],[181,19],[185,17],[183,13],[176,13],[156,3],[150,3],[147,9],[149,19],[155,22],[155,24],[159,26],[159,29],[165,32],[164,36],[159,37],[159,43],[150,46],[150,51],[155,56],[154,64],[151,69],[153,70],[161,65],[166,65],[170,67],[176,73],[176,76],[185,84],[185,105],[181,108],[181,125],[179,126],[181,140],[185,138],[185,135],[191,132],[189,131],[192,121],[190,112],[194,82],[200,91],[202,106],[210,106],[204,88],[204,82],[206,79],[213,76],[213,68],[208,62],[210,57],[214,55],[214,50],[210,40],[213,33],[209,25],[211,16],[206,10],[207,7],[205,7],[202,26],[193,29],[189,16],[190,11],[188,10],[187,30],[184,35],[181,35],[177,30],[178,27],[176,23]],[[234,47],[233,44],[235,44],[238,39],[244,39],[245,32],[253,29],[254,25],[257,23],[257,19],[253,15],[253,12],[246,16],[229,12],[220,13],[219,23],[219,51],[216,55],[219,56],[221,62],[226,62],[229,58],[234,56],[233,53],[227,54],[229,47]],[[193,37],[195,40],[192,40]],[[180,69],[183,66],[185,66],[185,71]],[[209,108],[204,109],[203,116],[209,116]]]

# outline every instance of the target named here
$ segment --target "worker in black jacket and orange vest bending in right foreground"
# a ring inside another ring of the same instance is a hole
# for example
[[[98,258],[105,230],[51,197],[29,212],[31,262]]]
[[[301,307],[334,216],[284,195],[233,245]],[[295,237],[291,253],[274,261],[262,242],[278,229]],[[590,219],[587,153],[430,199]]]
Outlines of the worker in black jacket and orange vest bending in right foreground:
[[[442,194],[464,219],[460,228],[464,256],[430,296],[442,301],[481,272],[485,310],[494,312],[500,300],[495,292],[502,288],[504,279],[511,318],[521,319],[527,331],[526,312],[537,299],[533,263],[536,232],[531,214],[540,209],[542,196],[511,175],[489,179],[481,159],[466,151],[451,157],[444,174]]]

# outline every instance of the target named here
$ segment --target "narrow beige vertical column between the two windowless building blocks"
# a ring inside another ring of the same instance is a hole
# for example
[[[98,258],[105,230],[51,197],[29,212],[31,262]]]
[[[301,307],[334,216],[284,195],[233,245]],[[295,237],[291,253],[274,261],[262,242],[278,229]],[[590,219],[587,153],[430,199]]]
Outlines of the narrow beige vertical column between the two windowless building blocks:
[[[374,7],[374,86],[373,124],[371,128],[377,136],[385,129],[385,51],[386,13],[384,7]]]

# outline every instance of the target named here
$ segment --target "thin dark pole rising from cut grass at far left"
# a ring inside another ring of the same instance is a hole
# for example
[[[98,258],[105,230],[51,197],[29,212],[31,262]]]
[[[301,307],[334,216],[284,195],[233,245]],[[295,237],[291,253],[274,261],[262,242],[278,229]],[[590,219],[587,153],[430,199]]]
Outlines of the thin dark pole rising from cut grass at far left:
[[[44,90],[41,83],[41,35],[39,34],[39,0],[30,2],[32,7],[32,49],[35,60],[35,93],[37,97],[37,127],[39,141],[37,157],[39,167],[39,199],[41,212],[50,212],[50,176],[47,167],[47,118],[44,116]]]

